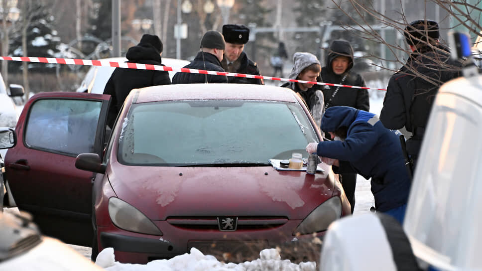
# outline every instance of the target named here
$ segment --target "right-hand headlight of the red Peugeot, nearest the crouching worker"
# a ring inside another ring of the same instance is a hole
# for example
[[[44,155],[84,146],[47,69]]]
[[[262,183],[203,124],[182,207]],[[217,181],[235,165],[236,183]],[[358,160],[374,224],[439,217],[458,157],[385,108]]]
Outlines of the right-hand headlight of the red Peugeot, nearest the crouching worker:
[[[296,228],[293,233],[311,234],[328,229],[333,221],[342,215],[342,202],[339,197],[333,197],[316,207]]]

